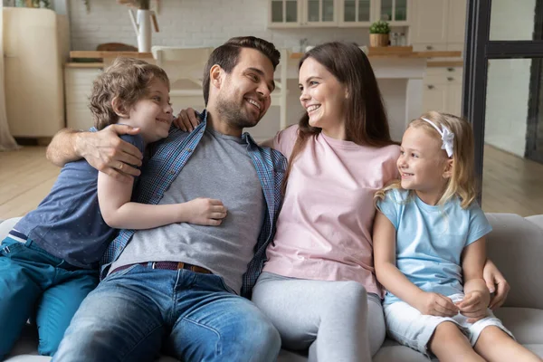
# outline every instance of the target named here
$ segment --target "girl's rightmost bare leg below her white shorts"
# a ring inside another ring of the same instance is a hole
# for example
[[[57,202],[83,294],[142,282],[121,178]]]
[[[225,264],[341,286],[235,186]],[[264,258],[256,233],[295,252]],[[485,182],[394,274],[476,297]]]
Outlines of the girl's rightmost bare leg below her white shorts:
[[[507,333],[496,326],[489,326],[482,329],[474,348],[484,359],[491,362],[543,361],[543,359],[536,356],[528,348],[520,345],[513,338],[510,338]]]

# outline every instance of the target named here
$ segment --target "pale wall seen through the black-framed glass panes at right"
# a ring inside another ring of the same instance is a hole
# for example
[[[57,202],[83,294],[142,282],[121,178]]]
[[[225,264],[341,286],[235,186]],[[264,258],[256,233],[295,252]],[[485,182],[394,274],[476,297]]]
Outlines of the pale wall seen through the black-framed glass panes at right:
[[[491,40],[531,40],[536,0],[492,0]],[[524,157],[530,59],[489,63],[486,143]]]

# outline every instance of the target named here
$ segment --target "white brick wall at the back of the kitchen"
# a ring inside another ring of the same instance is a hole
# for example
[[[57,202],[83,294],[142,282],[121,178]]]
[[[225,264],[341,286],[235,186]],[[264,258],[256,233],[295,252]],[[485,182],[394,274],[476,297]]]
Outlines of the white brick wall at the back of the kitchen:
[[[125,5],[113,0],[68,0],[71,49],[94,50],[100,43],[136,45],[136,35]],[[300,39],[310,44],[342,40],[366,44],[367,29],[268,30],[268,0],[160,0],[157,15],[160,33],[153,44],[170,46],[217,46],[233,36],[254,35],[277,47],[300,50]]]

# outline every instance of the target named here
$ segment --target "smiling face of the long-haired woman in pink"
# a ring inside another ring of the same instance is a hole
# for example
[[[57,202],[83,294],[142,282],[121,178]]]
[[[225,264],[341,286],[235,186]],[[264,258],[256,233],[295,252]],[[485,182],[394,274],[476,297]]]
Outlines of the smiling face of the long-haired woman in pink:
[[[347,89],[313,58],[300,67],[300,103],[310,116],[310,126],[319,127],[333,138],[345,129]]]

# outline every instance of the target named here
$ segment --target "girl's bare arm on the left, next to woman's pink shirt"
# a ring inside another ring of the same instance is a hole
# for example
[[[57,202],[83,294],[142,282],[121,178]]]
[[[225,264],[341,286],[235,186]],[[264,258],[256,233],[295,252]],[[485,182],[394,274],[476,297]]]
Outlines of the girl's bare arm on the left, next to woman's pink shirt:
[[[376,212],[373,244],[376,277],[388,291],[423,314],[453,316],[458,312],[452,300],[422,291],[398,270],[395,266],[395,227],[380,211]]]

